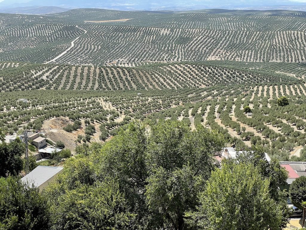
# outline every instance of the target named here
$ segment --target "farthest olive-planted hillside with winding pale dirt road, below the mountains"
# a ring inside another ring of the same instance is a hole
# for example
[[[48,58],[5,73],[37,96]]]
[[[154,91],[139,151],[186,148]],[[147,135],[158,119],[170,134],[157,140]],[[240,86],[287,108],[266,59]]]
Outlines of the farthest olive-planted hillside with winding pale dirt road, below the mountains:
[[[0,14],[0,60],[123,66],[205,60],[305,62],[305,20],[303,12],[281,10]]]

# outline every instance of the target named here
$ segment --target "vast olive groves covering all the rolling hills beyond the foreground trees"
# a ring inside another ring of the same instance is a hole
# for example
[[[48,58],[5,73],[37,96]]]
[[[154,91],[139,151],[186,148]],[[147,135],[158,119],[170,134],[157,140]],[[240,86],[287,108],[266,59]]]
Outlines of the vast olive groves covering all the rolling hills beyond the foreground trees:
[[[110,139],[132,120],[174,119],[217,129],[228,146],[261,144],[272,158],[299,160],[305,17],[283,10],[0,14],[0,128],[40,131],[73,150]],[[278,105],[282,96],[289,105]]]

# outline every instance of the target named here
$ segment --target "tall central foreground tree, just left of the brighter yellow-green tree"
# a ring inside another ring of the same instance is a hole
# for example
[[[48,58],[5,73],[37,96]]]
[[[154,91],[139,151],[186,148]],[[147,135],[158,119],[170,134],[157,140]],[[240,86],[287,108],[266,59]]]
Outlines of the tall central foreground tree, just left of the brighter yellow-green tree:
[[[151,215],[162,226],[187,229],[185,212],[195,209],[197,194],[215,167],[213,153],[223,144],[222,135],[203,127],[193,132],[180,122],[151,127],[145,195]]]

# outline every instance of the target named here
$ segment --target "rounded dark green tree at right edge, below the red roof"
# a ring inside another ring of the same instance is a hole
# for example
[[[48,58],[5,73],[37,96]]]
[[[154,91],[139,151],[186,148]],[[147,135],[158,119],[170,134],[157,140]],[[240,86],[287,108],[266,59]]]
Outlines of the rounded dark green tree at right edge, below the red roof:
[[[306,214],[306,177],[301,176],[292,182],[289,188],[289,197],[294,206],[303,210],[303,223],[305,223]]]

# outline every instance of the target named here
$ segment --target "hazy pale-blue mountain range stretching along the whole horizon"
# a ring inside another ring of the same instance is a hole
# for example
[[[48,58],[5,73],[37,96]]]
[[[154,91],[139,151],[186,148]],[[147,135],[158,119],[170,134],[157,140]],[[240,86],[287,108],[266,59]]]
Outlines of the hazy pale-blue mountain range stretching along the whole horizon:
[[[112,10],[198,10],[215,8],[306,10],[306,2],[290,0],[53,0],[51,2],[49,0],[4,0],[0,2],[0,9],[50,5],[64,9],[103,8]]]

